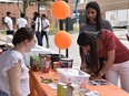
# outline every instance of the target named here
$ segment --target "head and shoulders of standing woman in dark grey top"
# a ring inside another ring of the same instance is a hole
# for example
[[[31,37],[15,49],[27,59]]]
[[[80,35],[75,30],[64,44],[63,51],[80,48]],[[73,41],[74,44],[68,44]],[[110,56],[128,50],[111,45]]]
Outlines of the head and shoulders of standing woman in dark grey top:
[[[96,1],[91,1],[86,6],[86,22],[80,26],[80,32],[96,32],[100,31],[101,29],[108,29],[112,31],[110,22],[101,18],[101,10]]]

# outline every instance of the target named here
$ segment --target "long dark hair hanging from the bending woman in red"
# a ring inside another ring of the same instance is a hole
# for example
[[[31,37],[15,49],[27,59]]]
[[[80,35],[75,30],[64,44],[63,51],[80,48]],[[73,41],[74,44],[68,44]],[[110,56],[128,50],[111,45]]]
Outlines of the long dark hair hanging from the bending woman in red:
[[[81,32],[78,36],[77,43],[79,46],[86,46],[90,45],[90,65],[89,68],[91,72],[98,74],[99,72],[99,65],[98,65],[98,56],[97,56],[97,44],[96,44],[96,39],[95,36],[96,32]],[[96,34],[100,35],[100,33]]]

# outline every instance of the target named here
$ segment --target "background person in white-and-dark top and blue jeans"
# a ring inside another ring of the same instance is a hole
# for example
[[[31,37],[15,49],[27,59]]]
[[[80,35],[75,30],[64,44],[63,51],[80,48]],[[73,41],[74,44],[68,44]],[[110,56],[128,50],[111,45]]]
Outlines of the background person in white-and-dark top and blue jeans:
[[[36,12],[36,21],[34,21],[34,32],[36,32],[36,36],[38,40],[38,45],[42,46],[42,39],[41,39],[41,18],[39,12]]]

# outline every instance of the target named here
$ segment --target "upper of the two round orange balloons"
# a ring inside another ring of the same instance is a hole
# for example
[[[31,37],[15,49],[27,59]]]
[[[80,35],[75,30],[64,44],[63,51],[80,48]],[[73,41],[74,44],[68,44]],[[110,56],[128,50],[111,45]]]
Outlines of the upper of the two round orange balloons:
[[[66,1],[56,1],[51,11],[54,18],[63,20],[70,14],[70,7]]]

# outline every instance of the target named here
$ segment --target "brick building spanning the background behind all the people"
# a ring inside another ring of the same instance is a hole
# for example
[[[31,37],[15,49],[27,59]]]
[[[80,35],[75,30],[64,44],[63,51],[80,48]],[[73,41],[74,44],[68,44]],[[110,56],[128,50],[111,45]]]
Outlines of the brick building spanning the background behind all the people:
[[[129,9],[129,0],[80,0],[78,10],[85,10],[87,2],[97,1],[100,4],[102,17],[106,18],[106,12],[110,10],[120,10],[120,9]],[[71,12],[75,8],[76,0],[69,0],[69,6],[71,8]],[[22,8],[22,2],[20,2],[20,8]],[[22,10],[22,9],[21,9]],[[3,18],[6,17],[7,11],[12,13],[13,20],[19,18],[19,8],[18,4],[0,2],[0,30],[4,30]],[[30,23],[30,18],[32,18],[32,13],[37,11],[36,4],[30,4],[27,10],[27,17]],[[48,19],[54,26],[57,26],[58,20],[56,20],[51,15],[50,10],[40,11],[41,13],[46,13]],[[72,17],[71,17],[72,18]]]

